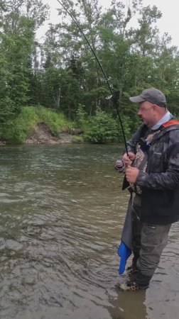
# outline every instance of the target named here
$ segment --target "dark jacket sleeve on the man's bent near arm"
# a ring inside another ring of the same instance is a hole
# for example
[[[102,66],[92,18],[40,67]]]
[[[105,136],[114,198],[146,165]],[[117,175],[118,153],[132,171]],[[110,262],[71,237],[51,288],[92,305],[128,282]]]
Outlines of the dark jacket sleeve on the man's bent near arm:
[[[155,163],[153,163],[155,165]],[[166,152],[166,172],[153,173],[139,172],[136,180],[139,186],[149,189],[170,189],[179,187],[179,145],[173,143]]]

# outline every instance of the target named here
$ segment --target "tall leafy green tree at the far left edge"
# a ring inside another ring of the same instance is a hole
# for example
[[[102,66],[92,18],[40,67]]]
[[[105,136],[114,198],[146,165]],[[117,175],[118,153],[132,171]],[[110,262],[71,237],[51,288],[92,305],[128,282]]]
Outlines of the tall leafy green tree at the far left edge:
[[[47,8],[38,0],[1,1],[1,123],[19,113],[28,101],[35,30],[45,20]]]

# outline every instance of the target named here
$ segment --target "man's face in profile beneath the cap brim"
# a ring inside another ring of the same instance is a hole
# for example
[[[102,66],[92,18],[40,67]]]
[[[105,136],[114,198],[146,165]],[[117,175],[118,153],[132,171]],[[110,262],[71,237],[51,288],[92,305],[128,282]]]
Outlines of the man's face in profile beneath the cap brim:
[[[154,124],[156,124],[155,104],[148,101],[140,103],[138,115],[141,116],[143,123],[145,123],[148,128],[151,128]]]

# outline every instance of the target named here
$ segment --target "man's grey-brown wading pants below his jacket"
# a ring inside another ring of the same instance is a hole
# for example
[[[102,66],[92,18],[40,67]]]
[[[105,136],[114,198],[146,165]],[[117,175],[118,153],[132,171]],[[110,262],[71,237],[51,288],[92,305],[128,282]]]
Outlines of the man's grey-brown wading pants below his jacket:
[[[136,267],[139,272],[136,274],[136,284],[148,286],[160,262],[163,248],[168,242],[168,233],[171,224],[153,225],[141,223],[141,196],[136,195],[133,203],[133,247]],[[137,259],[137,260],[136,260]]]

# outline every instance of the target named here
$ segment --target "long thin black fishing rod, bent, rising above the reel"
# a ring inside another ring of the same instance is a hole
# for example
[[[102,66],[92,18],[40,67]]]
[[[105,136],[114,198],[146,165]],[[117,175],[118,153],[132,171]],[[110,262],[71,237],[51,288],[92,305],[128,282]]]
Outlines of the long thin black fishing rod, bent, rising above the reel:
[[[106,73],[104,72],[104,69],[102,67],[102,64],[101,62],[99,61],[99,58],[97,57],[97,54],[96,52],[94,51],[94,49],[92,48],[92,45],[89,43],[89,40],[87,39],[85,33],[83,32],[82,28],[80,27],[79,23],[77,23],[76,19],[74,18],[74,16],[72,16],[72,13],[70,13],[69,10],[67,10],[67,8],[64,6],[64,4],[62,4],[61,1],[57,0],[58,3],[60,4],[60,6],[63,7],[63,9],[67,12],[67,14],[72,18],[72,21],[75,23],[75,25],[77,26],[77,28],[80,30],[80,33],[82,33],[83,37],[85,38],[85,40],[87,41],[87,44],[89,45],[90,49],[92,50],[92,53],[94,54],[94,57],[95,59],[97,60],[97,63],[100,67],[100,69],[102,70],[102,73],[104,75],[104,78],[106,79],[107,81],[107,85],[109,87],[109,91],[111,92],[111,96],[109,96],[109,98],[106,98],[106,99],[111,99],[112,98],[112,101],[114,103],[114,106],[116,107],[116,113],[117,113],[117,116],[119,118],[119,123],[121,125],[121,132],[122,132],[122,135],[123,135],[123,139],[124,139],[124,145],[125,145],[125,150],[126,150],[126,154],[127,156],[129,157],[129,154],[128,154],[128,150],[127,150],[127,144],[126,144],[126,135],[124,133],[124,126],[123,126],[123,123],[121,121],[121,116],[120,116],[120,113],[119,113],[119,108],[117,106],[117,101],[116,101],[116,97],[114,96],[114,92],[112,91],[112,87],[110,86],[109,84],[109,81],[107,79],[107,75]]]

